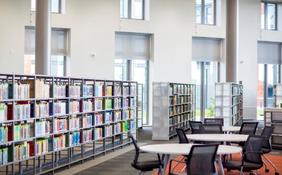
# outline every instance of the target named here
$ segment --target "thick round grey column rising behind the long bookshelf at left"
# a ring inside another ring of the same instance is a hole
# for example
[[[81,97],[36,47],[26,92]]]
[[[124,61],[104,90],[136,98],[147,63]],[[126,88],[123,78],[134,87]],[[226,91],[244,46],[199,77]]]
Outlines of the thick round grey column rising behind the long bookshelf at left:
[[[35,74],[50,75],[51,0],[36,1]]]

